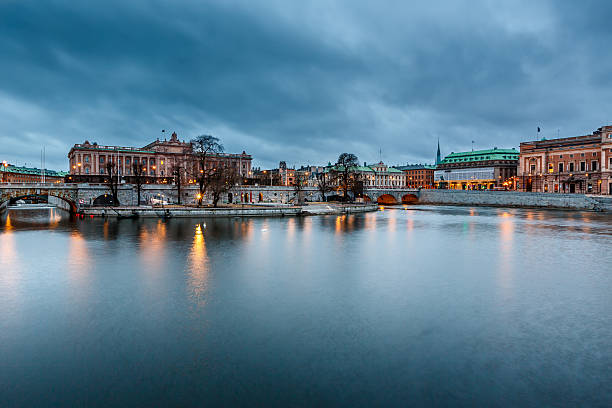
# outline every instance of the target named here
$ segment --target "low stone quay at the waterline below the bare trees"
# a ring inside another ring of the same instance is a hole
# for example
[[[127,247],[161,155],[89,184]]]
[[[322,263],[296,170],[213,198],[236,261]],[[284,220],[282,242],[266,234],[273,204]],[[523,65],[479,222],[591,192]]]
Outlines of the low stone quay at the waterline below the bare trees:
[[[78,214],[110,218],[189,218],[189,217],[285,217],[329,214],[355,214],[376,211],[378,204],[311,203],[289,205],[234,205],[218,208],[190,206],[120,206],[82,208]]]

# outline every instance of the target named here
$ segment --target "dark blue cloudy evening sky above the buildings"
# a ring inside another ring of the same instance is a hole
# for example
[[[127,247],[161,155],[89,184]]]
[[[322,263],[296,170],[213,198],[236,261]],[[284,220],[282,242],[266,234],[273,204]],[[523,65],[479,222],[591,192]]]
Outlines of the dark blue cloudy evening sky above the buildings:
[[[75,143],[172,131],[262,168],[590,134],[612,124],[611,21],[588,0],[0,0],[0,161],[44,146],[67,170]]]

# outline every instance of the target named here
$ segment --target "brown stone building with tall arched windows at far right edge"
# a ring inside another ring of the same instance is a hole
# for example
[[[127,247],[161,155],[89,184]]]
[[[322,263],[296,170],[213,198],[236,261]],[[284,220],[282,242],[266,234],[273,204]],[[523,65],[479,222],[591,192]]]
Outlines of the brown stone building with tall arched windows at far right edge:
[[[612,126],[591,135],[521,143],[521,191],[612,194]]]

